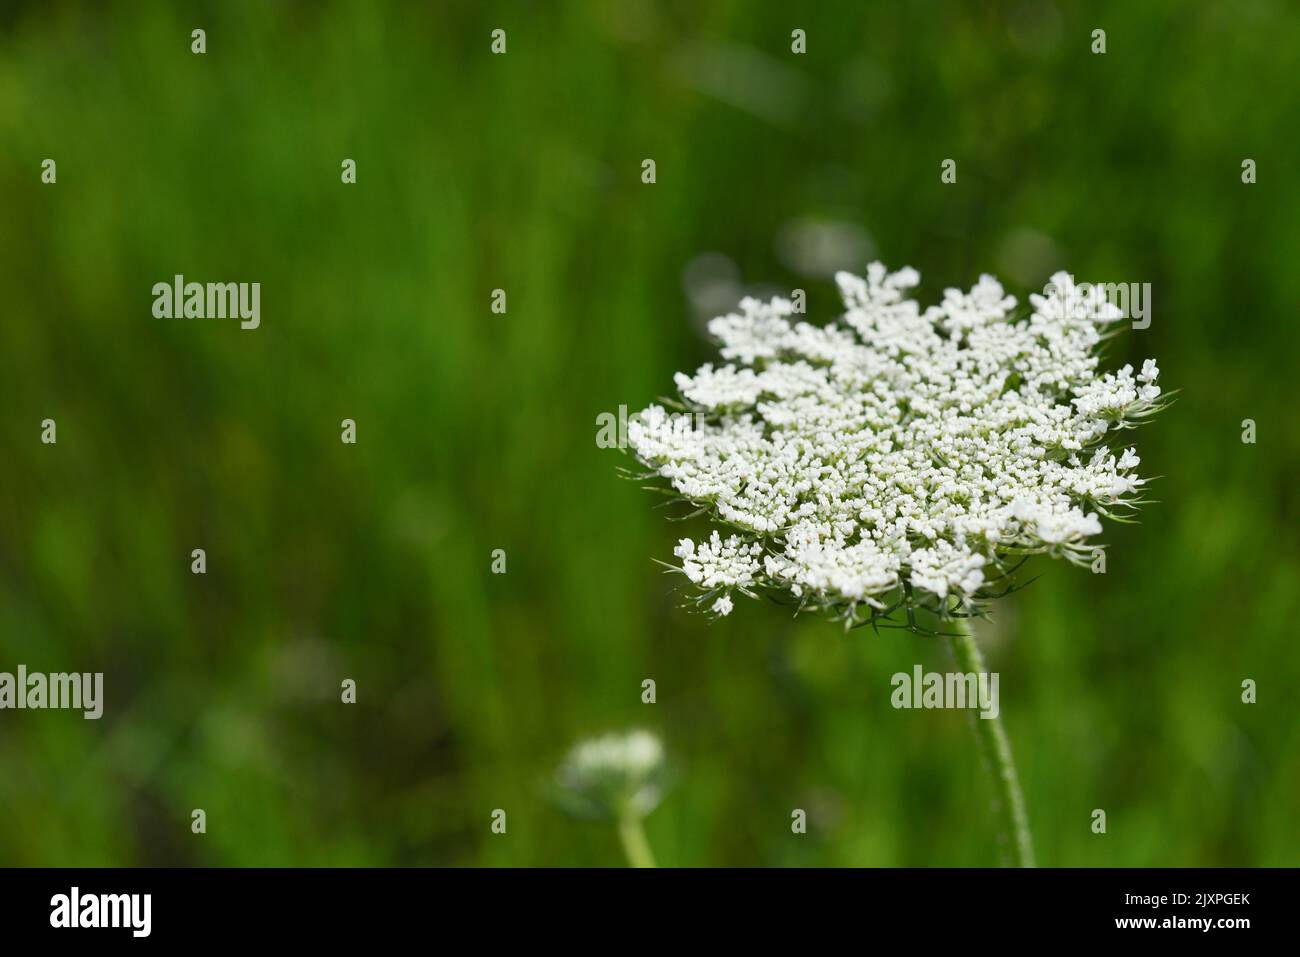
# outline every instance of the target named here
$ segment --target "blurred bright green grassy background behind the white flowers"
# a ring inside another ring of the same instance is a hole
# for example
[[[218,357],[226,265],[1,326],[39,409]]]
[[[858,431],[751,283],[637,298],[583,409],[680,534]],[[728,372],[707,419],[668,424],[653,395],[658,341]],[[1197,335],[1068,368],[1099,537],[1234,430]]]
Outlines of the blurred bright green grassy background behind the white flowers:
[[[785,7],[5,4],[0,670],[107,706],[0,713],[0,863],[618,863],[545,783],[633,724],[664,863],[996,862],[967,715],[889,706],[936,640],[686,615],[682,527],[594,442],[710,356],[701,254],[835,312],[806,218],[923,300],[1153,283],[1113,359],[1182,390],[1161,501],[982,640],[1043,863],[1297,863],[1300,7]],[[155,320],[174,273],[261,282],[261,328]]]

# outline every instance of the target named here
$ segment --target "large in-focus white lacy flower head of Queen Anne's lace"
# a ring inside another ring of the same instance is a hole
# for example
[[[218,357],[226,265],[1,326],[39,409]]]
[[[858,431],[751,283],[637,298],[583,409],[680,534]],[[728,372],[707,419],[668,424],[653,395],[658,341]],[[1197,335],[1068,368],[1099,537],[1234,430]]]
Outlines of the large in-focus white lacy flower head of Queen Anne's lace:
[[[1010,557],[1091,563],[1098,515],[1138,505],[1132,449],[1161,407],[1158,369],[1097,372],[1118,308],[1069,274],[1028,316],[991,276],[922,309],[914,269],[836,277],[845,313],[794,320],[745,299],[708,324],[724,364],[679,373],[688,415],[654,404],[628,441],[725,533],[682,538],[681,572],[715,614],[788,594],[852,624],[898,607],[970,614]]]

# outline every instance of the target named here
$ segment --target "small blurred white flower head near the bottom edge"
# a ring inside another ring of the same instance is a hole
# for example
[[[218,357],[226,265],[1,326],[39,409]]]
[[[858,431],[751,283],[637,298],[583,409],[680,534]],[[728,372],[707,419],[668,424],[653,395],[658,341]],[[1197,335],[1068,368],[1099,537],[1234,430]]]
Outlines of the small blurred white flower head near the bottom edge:
[[[651,732],[602,735],[564,758],[555,772],[556,797],[578,817],[645,817],[663,794],[663,744]]]

